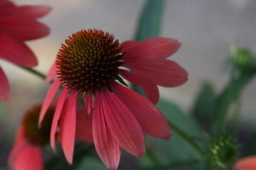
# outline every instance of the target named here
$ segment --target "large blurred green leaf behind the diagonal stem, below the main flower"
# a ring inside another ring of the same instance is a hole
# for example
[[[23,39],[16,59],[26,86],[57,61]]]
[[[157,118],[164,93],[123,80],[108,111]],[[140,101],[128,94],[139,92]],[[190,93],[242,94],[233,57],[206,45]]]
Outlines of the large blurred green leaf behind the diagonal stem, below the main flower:
[[[204,142],[207,140],[204,132],[202,132],[202,129],[198,127],[198,124],[190,115],[180,110],[176,104],[163,100],[157,106],[163,111],[168,121],[173,122],[179,129],[188,134],[190,138],[194,139],[193,141],[195,141],[196,145],[201,148],[204,147]],[[193,169],[193,167],[198,169],[198,166],[195,166],[193,163],[202,159],[202,156],[177,131],[172,128],[171,131],[172,136],[169,140],[148,137],[146,141],[147,146],[151,148],[155,157],[160,160],[161,166],[159,166],[159,169],[175,169],[175,166],[181,167],[183,163],[186,164],[184,166],[188,166],[188,169]],[[143,169],[152,169],[156,166],[152,164],[152,161],[151,164],[147,161],[150,159],[150,155],[146,153],[143,161],[139,162]]]

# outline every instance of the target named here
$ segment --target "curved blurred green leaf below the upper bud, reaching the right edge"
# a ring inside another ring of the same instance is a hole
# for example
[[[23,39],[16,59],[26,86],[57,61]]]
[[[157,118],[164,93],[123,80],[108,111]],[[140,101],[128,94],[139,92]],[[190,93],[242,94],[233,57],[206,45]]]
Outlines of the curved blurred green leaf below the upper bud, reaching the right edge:
[[[232,102],[236,101],[237,97],[241,94],[242,90],[256,75],[256,69],[250,72],[241,73],[237,78],[228,83],[227,87],[221,92],[220,96],[216,99],[216,125],[215,130],[223,129],[227,117],[227,111]]]

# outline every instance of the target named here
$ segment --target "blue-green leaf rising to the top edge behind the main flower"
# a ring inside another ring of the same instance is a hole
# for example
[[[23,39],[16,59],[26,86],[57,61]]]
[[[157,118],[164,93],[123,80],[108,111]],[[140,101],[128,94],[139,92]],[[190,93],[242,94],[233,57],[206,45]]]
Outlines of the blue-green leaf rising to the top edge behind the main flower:
[[[136,41],[159,36],[163,11],[164,0],[146,1],[136,30]]]

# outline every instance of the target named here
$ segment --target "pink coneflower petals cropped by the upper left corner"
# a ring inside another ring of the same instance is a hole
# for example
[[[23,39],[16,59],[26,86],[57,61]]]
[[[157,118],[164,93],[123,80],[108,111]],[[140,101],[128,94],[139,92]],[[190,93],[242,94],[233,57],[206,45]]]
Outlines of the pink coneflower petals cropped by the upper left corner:
[[[51,11],[48,6],[17,6],[11,1],[0,1],[0,58],[19,66],[37,65],[35,54],[24,41],[42,38],[49,27],[37,21]],[[10,85],[0,67],[0,102],[10,101]]]

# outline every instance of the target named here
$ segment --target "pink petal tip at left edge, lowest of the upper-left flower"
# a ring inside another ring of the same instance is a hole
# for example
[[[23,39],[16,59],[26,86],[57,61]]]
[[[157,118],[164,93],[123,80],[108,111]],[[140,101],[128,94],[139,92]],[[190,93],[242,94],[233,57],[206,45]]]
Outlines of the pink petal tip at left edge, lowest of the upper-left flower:
[[[0,67],[0,102],[8,102],[11,98],[10,85],[3,69]]]

